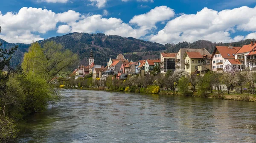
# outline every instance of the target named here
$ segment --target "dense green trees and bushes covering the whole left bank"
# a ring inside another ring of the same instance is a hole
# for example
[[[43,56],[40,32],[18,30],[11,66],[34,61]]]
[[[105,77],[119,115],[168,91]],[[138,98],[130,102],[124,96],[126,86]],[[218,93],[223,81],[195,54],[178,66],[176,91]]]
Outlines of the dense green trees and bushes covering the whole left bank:
[[[55,42],[38,42],[29,47],[21,65],[9,67],[17,46],[0,48],[0,142],[8,142],[19,133],[19,123],[35,112],[44,111],[60,97],[56,76],[65,79],[78,56]],[[59,79],[61,80],[61,78]]]

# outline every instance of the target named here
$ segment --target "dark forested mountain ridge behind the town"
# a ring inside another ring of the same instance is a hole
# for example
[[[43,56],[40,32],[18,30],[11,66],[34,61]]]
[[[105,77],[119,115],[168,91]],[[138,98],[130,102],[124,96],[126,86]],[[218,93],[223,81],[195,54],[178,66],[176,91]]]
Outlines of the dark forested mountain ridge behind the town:
[[[42,45],[47,41],[55,41],[70,49],[73,53],[79,55],[80,62],[77,64],[87,65],[90,50],[93,50],[95,63],[107,65],[109,57],[116,58],[116,55],[122,53],[126,59],[138,61],[140,59],[157,59],[163,51],[176,53],[180,48],[206,48],[210,53],[213,52],[216,45],[233,45],[242,46],[250,44],[254,39],[241,40],[232,43],[215,43],[207,40],[198,40],[195,42],[180,42],[177,44],[162,45],[156,42],[148,42],[133,37],[107,36],[105,34],[87,34],[87,33],[70,33],[63,36],[56,36],[49,39],[38,41]],[[1,48],[11,48],[18,45],[19,48],[12,56],[11,66],[15,67],[22,61],[23,54],[28,50],[31,44],[11,44],[2,39]],[[77,65],[75,65],[77,66]]]

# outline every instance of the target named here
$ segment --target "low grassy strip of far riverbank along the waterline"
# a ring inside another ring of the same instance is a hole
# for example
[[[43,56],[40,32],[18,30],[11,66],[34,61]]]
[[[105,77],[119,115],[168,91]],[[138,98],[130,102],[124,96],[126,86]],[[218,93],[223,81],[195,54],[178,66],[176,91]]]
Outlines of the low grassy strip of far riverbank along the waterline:
[[[111,91],[111,92],[129,92],[128,90],[111,90],[108,88],[76,88],[79,90],[98,90],[98,91]],[[136,90],[135,92],[130,93],[141,93],[140,91],[143,91],[145,93],[145,90]],[[151,94],[151,93],[145,93],[145,94]],[[179,95],[184,96],[179,92],[175,91],[160,91],[158,93],[154,93],[157,95]],[[214,98],[214,99],[222,99],[222,100],[234,100],[234,101],[246,101],[246,102],[256,102],[256,95],[252,94],[227,94],[227,93],[210,93],[207,95],[198,95],[197,93],[193,93],[186,96],[192,96],[192,97],[198,97],[198,98]]]

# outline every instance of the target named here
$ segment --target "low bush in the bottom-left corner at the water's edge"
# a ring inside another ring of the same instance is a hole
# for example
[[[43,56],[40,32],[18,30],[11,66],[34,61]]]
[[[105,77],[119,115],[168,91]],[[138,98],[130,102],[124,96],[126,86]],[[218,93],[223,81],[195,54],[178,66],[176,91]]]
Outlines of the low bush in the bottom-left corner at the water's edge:
[[[17,124],[12,119],[0,115],[0,142],[13,140],[18,132]]]

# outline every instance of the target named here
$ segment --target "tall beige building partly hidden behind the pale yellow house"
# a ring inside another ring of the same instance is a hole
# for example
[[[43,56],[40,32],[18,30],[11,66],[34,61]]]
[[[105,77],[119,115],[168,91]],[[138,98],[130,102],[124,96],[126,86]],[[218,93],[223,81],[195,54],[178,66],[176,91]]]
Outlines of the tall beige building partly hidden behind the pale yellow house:
[[[181,48],[179,52],[176,55],[176,60],[175,60],[175,70],[181,70],[185,69],[185,59],[184,55],[186,52],[198,52],[201,55],[211,55],[205,48],[203,49],[188,49],[188,48]]]

